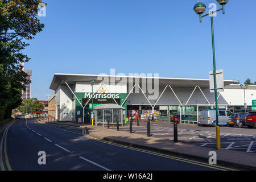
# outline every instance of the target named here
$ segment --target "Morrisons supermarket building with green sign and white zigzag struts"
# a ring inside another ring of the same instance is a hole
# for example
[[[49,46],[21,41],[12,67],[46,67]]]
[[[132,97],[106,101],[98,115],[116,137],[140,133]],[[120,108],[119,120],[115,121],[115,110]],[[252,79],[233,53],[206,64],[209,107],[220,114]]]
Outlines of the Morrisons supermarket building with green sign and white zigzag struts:
[[[225,90],[218,93],[218,106],[239,113],[245,111],[246,103],[246,111],[252,110],[256,85],[244,90],[234,83],[224,80]],[[84,113],[84,122],[89,123],[92,108],[101,104],[124,107],[123,122],[126,117],[144,119],[147,112],[153,111],[160,121],[179,113],[194,115],[198,121],[201,109],[214,109],[215,105],[208,79],[55,73],[50,89],[53,93],[48,115],[60,122],[81,122]]]

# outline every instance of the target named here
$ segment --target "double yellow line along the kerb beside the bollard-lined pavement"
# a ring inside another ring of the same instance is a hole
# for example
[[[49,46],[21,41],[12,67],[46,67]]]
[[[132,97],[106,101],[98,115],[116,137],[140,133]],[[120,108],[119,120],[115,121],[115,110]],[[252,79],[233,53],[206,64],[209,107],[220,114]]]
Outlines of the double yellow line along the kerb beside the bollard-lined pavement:
[[[160,154],[158,152],[153,152],[153,151],[143,150],[143,149],[140,149],[140,148],[124,146],[122,144],[117,144],[117,143],[113,143],[113,142],[108,142],[108,141],[105,141],[105,140],[102,140],[102,139],[98,139],[98,138],[94,138],[94,137],[91,137],[89,135],[86,135],[85,134],[85,129],[82,129],[82,135],[84,135],[84,137],[86,137],[86,138],[97,140],[98,142],[111,144],[113,146],[127,148],[127,149],[134,150],[134,151],[139,151],[139,152],[143,152],[143,153],[146,153],[146,154],[156,155],[156,156],[160,156],[162,158],[179,160],[180,162],[195,164],[197,166],[208,167],[208,168],[217,169],[217,170],[220,170],[220,171],[237,171],[237,170],[232,169],[232,168],[226,168],[226,167],[221,167],[221,166],[213,166],[213,165],[203,163],[203,162],[198,162],[198,161],[195,161],[195,160],[183,159],[183,158],[179,158],[179,157],[172,156],[172,155]]]

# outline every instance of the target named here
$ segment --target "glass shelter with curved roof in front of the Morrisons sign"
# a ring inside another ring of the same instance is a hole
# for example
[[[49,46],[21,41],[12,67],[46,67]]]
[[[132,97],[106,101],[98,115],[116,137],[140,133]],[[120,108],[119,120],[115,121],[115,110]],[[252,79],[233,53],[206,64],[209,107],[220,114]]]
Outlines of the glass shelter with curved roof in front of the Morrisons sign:
[[[110,125],[115,125],[117,119],[119,124],[123,124],[123,114],[125,114],[125,107],[116,104],[101,104],[93,107],[93,120],[96,126],[107,125],[108,120]]]

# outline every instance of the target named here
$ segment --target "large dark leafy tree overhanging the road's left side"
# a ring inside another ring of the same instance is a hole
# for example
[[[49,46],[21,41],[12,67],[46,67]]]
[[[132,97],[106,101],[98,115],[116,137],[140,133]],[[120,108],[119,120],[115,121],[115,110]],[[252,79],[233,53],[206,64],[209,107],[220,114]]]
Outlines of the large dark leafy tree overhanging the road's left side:
[[[41,0],[0,0],[0,119],[22,102],[27,74],[20,63],[29,61],[21,52],[28,40],[43,30],[36,17]]]

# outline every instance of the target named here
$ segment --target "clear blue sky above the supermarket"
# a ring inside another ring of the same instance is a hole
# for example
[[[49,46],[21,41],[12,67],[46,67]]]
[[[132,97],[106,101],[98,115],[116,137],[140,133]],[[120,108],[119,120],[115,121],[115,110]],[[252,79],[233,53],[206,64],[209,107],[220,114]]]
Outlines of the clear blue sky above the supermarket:
[[[39,17],[45,28],[23,51],[31,57],[25,68],[32,69],[32,97],[39,100],[52,92],[54,73],[110,74],[115,68],[126,75],[209,78],[213,69],[210,18],[199,23],[197,0],[45,2],[47,16]],[[242,3],[229,1],[226,14],[214,18],[216,67],[225,80],[254,82],[256,1]]]

